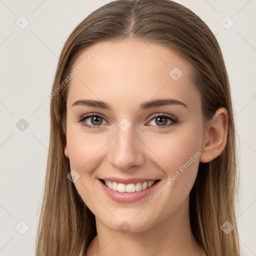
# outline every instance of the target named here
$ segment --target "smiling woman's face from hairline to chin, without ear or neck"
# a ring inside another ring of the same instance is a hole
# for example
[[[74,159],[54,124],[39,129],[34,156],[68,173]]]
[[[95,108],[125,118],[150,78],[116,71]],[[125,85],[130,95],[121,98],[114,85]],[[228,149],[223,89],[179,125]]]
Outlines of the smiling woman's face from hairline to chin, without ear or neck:
[[[203,144],[192,67],[164,46],[125,39],[90,46],[74,69],[64,152],[84,203],[114,230],[169,218],[187,203]]]

